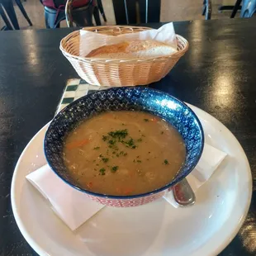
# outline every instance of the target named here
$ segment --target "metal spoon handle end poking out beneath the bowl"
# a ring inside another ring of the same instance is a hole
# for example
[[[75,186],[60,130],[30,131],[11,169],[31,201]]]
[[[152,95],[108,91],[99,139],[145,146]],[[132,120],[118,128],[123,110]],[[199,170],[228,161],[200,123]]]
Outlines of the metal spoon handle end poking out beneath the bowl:
[[[173,187],[173,197],[180,206],[189,206],[196,201],[195,194],[186,178]]]

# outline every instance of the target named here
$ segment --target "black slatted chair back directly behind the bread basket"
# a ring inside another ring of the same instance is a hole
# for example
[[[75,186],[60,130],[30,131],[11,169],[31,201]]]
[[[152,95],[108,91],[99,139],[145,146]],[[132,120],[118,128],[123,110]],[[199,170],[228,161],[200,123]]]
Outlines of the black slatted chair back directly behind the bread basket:
[[[161,0],[113,0],[116,24],[160,21]]]

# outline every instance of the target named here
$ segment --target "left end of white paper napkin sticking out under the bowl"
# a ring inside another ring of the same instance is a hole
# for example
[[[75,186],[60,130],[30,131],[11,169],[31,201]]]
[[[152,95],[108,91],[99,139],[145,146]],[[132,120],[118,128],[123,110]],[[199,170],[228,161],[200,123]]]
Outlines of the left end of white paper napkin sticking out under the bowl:
[[[76,230],[104,207],[64,183],[48,164],[28,174],[26,178],[50,201],[52,210],[71,230]]]

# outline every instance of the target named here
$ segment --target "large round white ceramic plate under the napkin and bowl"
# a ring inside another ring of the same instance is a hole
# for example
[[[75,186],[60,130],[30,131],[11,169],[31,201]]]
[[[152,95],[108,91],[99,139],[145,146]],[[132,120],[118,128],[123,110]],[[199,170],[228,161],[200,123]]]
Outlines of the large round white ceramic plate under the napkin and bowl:
[[[132,208],[104,207],[76,233],[59,220],[26,175],[46,163],[43,127],[26,146],[12,178],[12,210],[22,235],[40,255],[206,256],[230,243],[249,210],[252,178],[244,150],[220,121],[192,107],[206,142],[229,156],[197,191],[197,202],[174,208],[161,199]],[[58,187],[56,187],[58,189]]]

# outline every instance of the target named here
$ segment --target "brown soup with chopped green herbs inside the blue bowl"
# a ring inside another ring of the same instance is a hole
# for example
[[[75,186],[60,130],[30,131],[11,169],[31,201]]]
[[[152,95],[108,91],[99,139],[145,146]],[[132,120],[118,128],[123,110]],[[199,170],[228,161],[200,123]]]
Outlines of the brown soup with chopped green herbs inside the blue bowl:
[[[79,124],[65,139],[64,164],[77,183],[113,196],[170,183],[186,149],[178,130],[142,111],[113,111]]]

